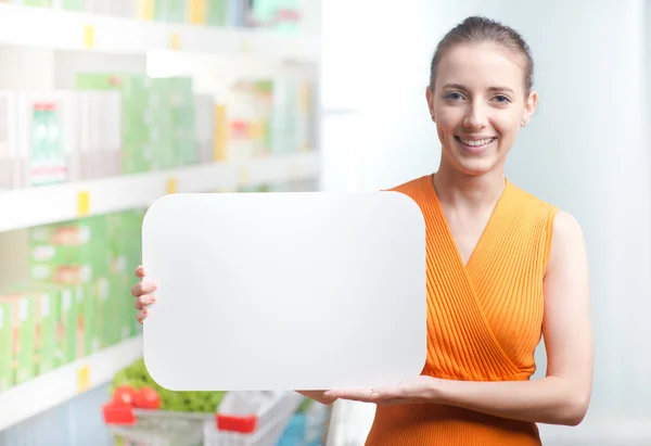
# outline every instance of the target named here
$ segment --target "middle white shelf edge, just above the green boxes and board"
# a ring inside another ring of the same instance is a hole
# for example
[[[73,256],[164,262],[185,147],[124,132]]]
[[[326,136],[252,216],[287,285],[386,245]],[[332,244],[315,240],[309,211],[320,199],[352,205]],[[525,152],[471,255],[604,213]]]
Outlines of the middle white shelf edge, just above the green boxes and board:
[[[240,186],[315,178],[316,152],[215,163],[0,193],[0,231],[148,207],[170,192],[214,192]]]

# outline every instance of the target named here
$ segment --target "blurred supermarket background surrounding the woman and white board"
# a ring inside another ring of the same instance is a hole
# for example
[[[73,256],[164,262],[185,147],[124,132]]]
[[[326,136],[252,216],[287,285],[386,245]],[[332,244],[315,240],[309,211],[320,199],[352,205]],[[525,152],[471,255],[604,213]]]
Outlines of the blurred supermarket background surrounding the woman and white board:
[[[363,444],[371,405],[156,387],[129,294],[140,222],[167,193],[432,173],[430,59],[473,14],[532,47],[539,106],[507,173],[576,216],[590,260],[592,403],[544,444],[651,445],[644,0],[0,1],[0,445]],[[248,432],[218,406],[282,417]]]

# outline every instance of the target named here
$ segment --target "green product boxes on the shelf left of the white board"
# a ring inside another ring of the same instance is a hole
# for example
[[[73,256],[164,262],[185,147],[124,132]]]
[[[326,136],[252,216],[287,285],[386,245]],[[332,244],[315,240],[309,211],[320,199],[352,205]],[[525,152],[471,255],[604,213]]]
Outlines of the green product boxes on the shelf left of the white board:
[[[141,333],[128,298],[142,211],[29,230],[30,280],[0,290],[0,391]]]

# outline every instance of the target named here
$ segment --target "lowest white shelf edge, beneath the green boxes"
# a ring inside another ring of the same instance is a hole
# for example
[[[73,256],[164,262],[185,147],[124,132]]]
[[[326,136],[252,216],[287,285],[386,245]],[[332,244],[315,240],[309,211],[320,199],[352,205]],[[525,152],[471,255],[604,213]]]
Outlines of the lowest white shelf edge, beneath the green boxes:
[[[0,393],[0,431],[110,382],[124,367],[142,357],[142,336]]]

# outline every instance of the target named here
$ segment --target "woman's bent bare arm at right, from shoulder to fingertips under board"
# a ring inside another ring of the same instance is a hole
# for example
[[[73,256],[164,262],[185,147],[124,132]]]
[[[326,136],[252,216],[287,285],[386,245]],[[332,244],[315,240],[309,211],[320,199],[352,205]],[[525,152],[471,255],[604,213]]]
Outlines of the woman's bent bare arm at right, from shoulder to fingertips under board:
[[[556,217],[545,277],[542,334],[547,375],[523,382],[468,382],[418,377],[395,386],[330,391],[379,405],[434,403],[513,420],[576,425],[592,388],[592,332],[588,263],[583,233],[566,213]]]

